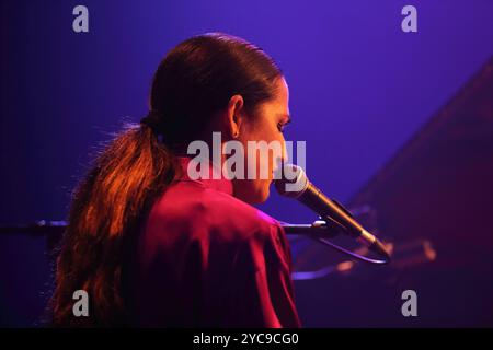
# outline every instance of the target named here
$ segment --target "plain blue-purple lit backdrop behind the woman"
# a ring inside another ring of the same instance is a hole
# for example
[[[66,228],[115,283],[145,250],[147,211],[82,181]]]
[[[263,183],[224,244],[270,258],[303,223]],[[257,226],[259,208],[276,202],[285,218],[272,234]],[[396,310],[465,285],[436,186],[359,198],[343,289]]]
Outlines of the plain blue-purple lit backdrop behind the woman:
[[[87,34],[71,28],[77,4]],[[419,33],[401,31],[405,4]],[[490,0],[2,1],[0,16],[0,223],[64,219],[90,153],[139,120],[159,61],[192,35],[226,32],[274,57],[290,86],[286,137],[307,141],[310,178],[342,201],[493,54]],[[262,208],[314,219],[277,195]],[[0,237],[0,325],[43,310],[44,244]]]

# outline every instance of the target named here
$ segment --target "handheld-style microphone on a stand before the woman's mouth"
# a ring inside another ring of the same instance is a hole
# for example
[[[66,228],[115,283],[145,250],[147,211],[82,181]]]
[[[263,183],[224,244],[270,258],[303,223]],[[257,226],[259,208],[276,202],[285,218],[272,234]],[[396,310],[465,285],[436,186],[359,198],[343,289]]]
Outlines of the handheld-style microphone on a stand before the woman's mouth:
[[[390,258],[383,244],[375,235],[366,231],[347,209],[337,201],[329,199],[319,188],[310,183],[300,166],[285,164],[279,171],[280,176],[276,176],[274,182],[279,195],[297,199],[322,219],[329,218],[335,221],[344,229],[345,233],[366,245],[369,250],[383,255],[388,259]]]

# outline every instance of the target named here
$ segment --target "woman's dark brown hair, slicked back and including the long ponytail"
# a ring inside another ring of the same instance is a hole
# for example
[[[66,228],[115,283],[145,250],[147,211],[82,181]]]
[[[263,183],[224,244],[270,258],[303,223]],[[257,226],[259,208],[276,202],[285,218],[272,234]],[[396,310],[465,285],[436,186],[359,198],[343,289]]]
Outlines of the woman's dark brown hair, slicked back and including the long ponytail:
[[[152,127],[127,126],[73,192],[50,301],[54,326],[128,324],[125,260],[141,220],[176,175],[174,150],[198,139],[232,95],[242,95],[250,112],[271,100],[280,75],[262,49],[221,33],[188,38],[164,57],[150,92]],[[72,314],[76,290],[90,296],[89,317]]]

